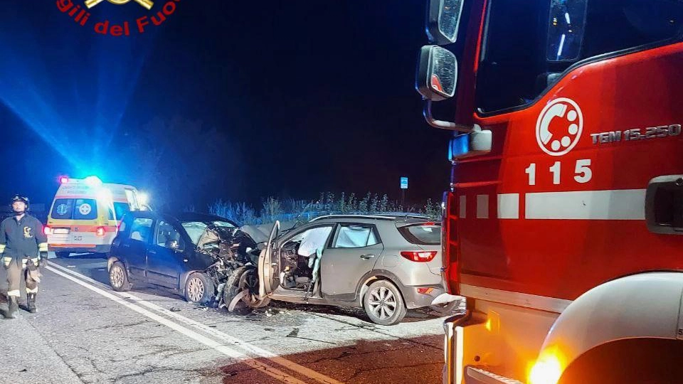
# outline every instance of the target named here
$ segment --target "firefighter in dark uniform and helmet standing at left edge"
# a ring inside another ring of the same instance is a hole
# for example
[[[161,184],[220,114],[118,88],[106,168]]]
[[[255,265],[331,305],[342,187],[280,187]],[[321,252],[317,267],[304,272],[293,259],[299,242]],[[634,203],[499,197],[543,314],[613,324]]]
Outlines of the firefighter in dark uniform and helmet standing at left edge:
[[[28,215],[28,198],[20,195],[12,198],[14,216],[0,223],[0,257],[7,272],[7,297],[9,309],[6,319],[14,319],[18,309],[21,275],[26,282],[26,309],[36,312],[36,294],[40,273],[38,266],[48,260],[48,240],[43,233],[43,224]]]

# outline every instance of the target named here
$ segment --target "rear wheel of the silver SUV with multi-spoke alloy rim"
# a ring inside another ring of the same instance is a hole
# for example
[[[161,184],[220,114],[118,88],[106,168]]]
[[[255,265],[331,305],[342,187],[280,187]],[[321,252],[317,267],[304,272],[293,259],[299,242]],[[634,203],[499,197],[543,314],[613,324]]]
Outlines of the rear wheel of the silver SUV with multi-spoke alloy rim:
[[[363,307],[370,320],[379,325],[398,324],[406,316],[406,304],[396,285],[387,280],[378,280],[368,288]]]

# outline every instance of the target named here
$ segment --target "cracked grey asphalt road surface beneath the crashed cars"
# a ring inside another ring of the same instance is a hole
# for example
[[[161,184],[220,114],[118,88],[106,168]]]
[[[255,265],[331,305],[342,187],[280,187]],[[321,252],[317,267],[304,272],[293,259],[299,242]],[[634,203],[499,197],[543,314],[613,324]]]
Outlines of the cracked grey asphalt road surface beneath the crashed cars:
[[[50,259],[38,312],[0,316],[0,383],[440,383],[442,319],[272,302],[247,316],[174,292],[114,292],[106,260]],[[0,312],[6,310],[0,268]],[[24,302],[23,299],[21,302]]]

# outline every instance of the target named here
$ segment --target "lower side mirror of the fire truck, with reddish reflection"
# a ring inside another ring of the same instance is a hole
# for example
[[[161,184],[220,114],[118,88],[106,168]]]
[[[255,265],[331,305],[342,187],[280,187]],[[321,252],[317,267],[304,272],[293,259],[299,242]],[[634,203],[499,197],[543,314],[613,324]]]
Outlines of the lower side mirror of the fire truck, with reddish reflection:
[[[455,95],[457,60],[440,46],[423,46],[415,74],[415,89],[426,100],[440,101]]]

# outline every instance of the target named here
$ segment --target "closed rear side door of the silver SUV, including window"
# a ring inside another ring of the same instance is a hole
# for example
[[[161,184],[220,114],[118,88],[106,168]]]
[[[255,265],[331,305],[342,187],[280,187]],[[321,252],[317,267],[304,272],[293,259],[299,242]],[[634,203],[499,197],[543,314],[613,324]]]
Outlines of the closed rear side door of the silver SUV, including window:
[[[339,223],[321,260],[323,297],[353,300],[364,275],[373,270],[384,251],[375,225]]]

